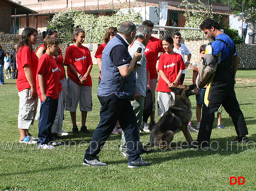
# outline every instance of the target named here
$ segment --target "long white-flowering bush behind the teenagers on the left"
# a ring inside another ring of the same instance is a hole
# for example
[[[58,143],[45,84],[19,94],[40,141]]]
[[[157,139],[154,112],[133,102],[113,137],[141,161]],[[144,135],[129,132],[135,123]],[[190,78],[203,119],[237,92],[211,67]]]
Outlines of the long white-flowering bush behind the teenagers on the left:
[[[74,28],[79,26],[84,29],[85,43],[90,42],[90,33],[92,26],[92,43],[102,43],[103,36],[107,28],[113,26],[119,28],[124,21],[133,23],[142,23],[142,18],[139,13],[131,11],[130,14],[118,14],[114,16],[99,16],[96,18],[93,14],[84,14],[74,10],[59,12],[50,21],[49,28],[54,28],[58,31],[58,36],[62,43],[71,42]]]

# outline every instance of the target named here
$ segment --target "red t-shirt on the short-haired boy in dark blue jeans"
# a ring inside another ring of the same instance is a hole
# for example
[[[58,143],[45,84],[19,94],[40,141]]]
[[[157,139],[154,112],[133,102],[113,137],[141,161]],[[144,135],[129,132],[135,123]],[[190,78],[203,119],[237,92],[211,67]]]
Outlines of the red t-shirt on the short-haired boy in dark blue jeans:
[[[36,90],[40,99],[42,99],[41,90],[38,83],[38,73],[44,77],[44,90],[47,96],[52,99],[57,99],[62,90],[60,83],[60,72],[58,65],[54,59],[48,54],[43,54],[38,62]]]

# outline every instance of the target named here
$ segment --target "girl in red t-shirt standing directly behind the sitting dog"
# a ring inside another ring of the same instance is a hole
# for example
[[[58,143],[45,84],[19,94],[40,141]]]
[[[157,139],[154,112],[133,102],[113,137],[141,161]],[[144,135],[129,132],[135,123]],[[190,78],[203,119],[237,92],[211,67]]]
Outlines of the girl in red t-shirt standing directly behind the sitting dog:
[[[186,69],[182,56],[173,51],[172,37],[164,37],[162,44],[165,53],[160,56],[157,69],[160,74],[156,87],[158,116],[163,116],[168,108],[174,104],[175,95],[169,88],[174,87],[174,83],[180,85],[182,70]]]

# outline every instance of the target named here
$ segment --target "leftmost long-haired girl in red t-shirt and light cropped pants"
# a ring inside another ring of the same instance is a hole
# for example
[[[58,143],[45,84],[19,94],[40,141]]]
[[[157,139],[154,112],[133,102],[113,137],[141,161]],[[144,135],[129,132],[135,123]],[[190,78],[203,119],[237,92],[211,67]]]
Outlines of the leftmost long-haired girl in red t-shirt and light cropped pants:
[[[20,131],[20,142],[26,144],[36,144],[28,129],[34,123],[38,95],[36,93],[36,71],[38,57],[32,49],[38,37],[34,28],[26,27],[18,43],[17,69],[18,79],[17,88],[20,96],[20,106],[18,114],[18,128]]]

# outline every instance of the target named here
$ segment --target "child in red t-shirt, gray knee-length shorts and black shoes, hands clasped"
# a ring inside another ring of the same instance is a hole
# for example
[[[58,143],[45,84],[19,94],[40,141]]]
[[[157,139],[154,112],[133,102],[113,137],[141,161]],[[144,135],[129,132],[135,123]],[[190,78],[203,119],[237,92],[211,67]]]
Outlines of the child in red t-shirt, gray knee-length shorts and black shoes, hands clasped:
[[[66,50],[64,65],[68,66],[68,90],[66,95],[66,110],[70,111],[73,124],[72,132],[79,133],[76,125],[76,108],[80,102],[82,114],[81,132],[90,133],[86,127],[87,112],[92,111],[92,57],[89,49],[84,47],[85,32],[82,29],[74,31],[75,43]]]

